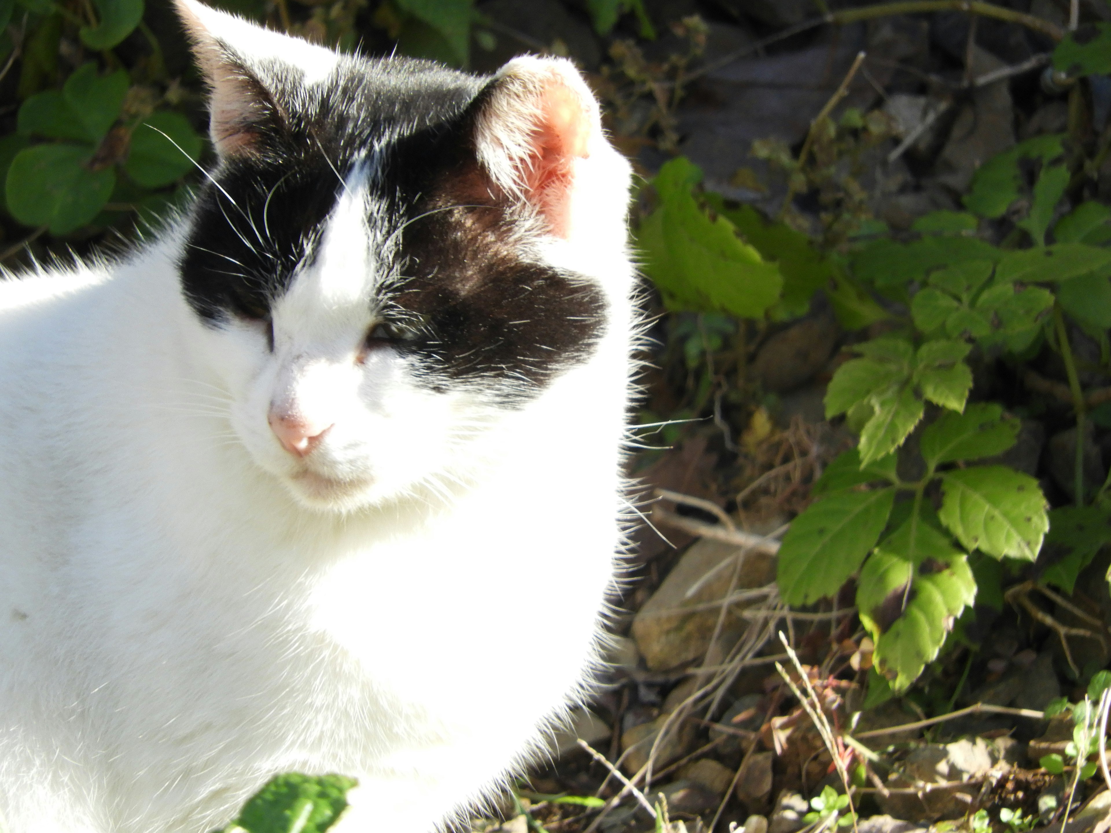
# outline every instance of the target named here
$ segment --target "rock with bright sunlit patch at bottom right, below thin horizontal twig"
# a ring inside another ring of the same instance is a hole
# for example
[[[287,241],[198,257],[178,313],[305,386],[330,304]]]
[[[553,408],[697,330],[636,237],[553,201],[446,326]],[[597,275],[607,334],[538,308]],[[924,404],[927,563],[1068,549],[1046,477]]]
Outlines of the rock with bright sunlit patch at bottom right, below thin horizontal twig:
[[[903,771],[912,779],[927,784],[951,781],[970,781],[983,775],[995,764],[999,751],[983,737],[961,740],[944,745],[930,743],[919,746],[907,755]],[[897,774],[888,779],[888,786],[911,786]],[[939,819],[958,819],[969,809],[968,796],[980,790],[979,784],[968,787],[953,787],[923,793],[921,797],[913,794],[891,793],[875,796],[880,809],[902,819],[922,819],[937,821]],[[963,796],[963,797],[959,797]]]

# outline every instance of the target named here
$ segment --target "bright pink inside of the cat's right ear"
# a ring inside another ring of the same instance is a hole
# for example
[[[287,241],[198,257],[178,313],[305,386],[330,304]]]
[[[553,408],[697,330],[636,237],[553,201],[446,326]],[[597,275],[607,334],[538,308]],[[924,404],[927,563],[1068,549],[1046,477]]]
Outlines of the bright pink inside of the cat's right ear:
[[[570,232],[570,190],[575,159],[585,159],[590,121],[579,96],[558,81],[544,87],[540,118],[532,131],[533,153],[523,179],[529,202],[539,209],[552,233]]]

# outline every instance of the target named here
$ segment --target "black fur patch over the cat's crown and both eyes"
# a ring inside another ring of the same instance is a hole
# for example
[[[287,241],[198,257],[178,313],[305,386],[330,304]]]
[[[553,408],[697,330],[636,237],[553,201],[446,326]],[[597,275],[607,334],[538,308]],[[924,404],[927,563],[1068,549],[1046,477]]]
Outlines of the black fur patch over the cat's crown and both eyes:
[[[202,189],[180,264],[200,317],[267,320],[311,261],[342,179],[373,154],[371,200],[391,227],[379,239],[400,240],[376,307],[410,328],[397,349],[427,384],[480,382],[509,403],[589,357],[601,292],[528,257],[517,207],[476,162],[488,79],[408,59],[344,59],[334,82],[309,90],[281,68],[258,77],[263,116],[242,126],[252,152]]]

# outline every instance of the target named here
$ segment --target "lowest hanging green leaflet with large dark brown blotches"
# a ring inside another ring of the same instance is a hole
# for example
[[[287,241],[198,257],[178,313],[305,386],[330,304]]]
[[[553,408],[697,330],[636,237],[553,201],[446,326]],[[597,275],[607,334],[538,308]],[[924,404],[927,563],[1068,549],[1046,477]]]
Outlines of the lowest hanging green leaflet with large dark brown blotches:
[[[963,553],[921,515],[912,514],[868,559],[857,606],[875,641],[875,664],[895,673],[895,691],[937,658],[975,590]]]

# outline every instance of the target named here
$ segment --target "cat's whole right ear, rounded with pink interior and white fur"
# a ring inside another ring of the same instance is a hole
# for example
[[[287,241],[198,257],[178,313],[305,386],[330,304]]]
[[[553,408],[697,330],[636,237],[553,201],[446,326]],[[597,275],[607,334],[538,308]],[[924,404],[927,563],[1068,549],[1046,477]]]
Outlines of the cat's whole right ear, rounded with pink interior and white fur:
[[[479,162],[504,192],[531,204],[567,237],[578,161],[605,142],[598,102],[574,66],[559,58],[516,58],[478,102]]]

